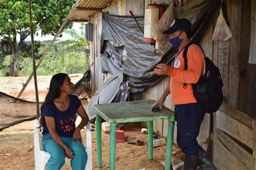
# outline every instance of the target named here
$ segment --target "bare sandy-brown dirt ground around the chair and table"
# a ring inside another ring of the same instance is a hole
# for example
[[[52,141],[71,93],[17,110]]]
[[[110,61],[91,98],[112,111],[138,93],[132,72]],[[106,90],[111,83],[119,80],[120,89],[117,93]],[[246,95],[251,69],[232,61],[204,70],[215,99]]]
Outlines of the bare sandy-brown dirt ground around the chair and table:
[[[76,83],[82,74],[78,77],[71,77],[71,81]],[[50,83],[48,76],[38,77],[39,100],[43,101]],[[26,77],[0,77],[0,91],[17,96],[22,88]],[[35,101],[33,82],[29,84],[22,98]],[[84,107],[87,100],[82,101]],[[21,124],[11,126],[0,132],[0,169],[35,169],[34,150],[33,150],[33,131],[36,120],[25,121]],[[137,139],[147,141],[147,135],[140,132],[138,123],[130,123],[123,128],[126,141],[135,141]],[[82,137],[86,139],[86,131],[82,130]],[[102,158],[103,168],[109,169],[109,133],[102,132]],[[148,159],[147,145],[130,145],[127,142],[117,142],[116,144],[116,169],[164,169],[160,161],[165,160],[166,145],[153,149],[153,160]],[[173,154],[179,153],[179,149],[173,147]],[[96,131],[92,131],[92,164],[93,169],[97,168],[97,148]],[[62,169],[71,169],[70,162],[66,162]]]

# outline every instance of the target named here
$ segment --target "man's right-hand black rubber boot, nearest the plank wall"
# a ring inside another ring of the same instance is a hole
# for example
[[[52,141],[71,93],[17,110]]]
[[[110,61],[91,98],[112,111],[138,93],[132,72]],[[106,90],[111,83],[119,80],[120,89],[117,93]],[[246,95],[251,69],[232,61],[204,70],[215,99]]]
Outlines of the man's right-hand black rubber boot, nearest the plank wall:
[[[212,160],[209,158],[205,150],[199,145],[199,163],[198,166],[203,170],[216,170]]]

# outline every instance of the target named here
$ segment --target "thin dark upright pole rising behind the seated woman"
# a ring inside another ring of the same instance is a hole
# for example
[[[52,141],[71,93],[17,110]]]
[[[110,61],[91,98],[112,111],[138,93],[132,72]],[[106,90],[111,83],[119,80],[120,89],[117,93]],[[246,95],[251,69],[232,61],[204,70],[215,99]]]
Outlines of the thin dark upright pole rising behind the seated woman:
[[[30,36],[31,36],[31,49],[32,49],[32,60],[33,60],[33,77],[34,77],[35,93],[36,93],[36,116],[38,119],[40,113],[39,113],[39,98],[38,98],[37,77],[36,77],[36,58],[35,58],[31,0],[29,0],[29,19],[30,19]]]

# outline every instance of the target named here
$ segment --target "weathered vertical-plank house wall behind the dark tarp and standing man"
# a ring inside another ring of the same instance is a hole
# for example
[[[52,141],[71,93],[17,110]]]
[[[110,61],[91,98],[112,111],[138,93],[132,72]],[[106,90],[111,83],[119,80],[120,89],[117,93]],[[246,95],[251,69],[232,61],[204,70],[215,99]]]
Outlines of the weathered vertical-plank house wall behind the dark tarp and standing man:
[[[195,0],[193,0],[195,1]],[[182,0],[181,4],[193,2],[190,0]],[[152,1],[157,3],[169,4],[169,0]],[[223,82],[224,82],[224,101],[240,111],[247,113],[251,117],[255,118],[255,97],[252,94],[256,94],[256,76],[254,65],[248,64],[248,51],[250,45],[250,0],[225,0],[227,4],[228,19],[231,23],[231,30],[233,37],[227,42],[213,42],[212,35],[215,28],[217,18],[219,16],[219,9],[215,11],[215,15],[211,21],[209,21],[207,33],[204,35],[200,44],[203,47],[206,56],[211,58],[215,65],[220,69]],[[116,15],[129,15],[129,11],[132,10],[134,15],[143,15],[143,8],[147,8],[147,4],[150,0],[113,0],[109,3],[109,6],[104,10]],[[97,90],[110,74],[102,74],[100,63],[100,35],[101,35],[101,15],[97,13],[92,16],[90,22],[93,23],[94,40],[92,43],[92,61],[94,65],[92,67],[92,88]],[[159,81],[158,84],[149,87],[142,94],[136,94],[135,98],[139,99],[155,99],[157,100],[163,93],[169,78],[165,78]],[[248,85],[249,84],[249,85]],[[250,99],[250,100],[249,100]],[[165,106],[173,109],[171,97],[168,96],[165,101]],[[254,108],[254,110],[252,110]],[[146,125],[146,124],[145,124]],[[199,144],[209,141],[210,139],[210,115],[206,114],[206,117],[201,126],[199,134]],[[176,129],[176,128],[175,128]],[[167,120],[159,120],[154,122],[154,131],[159,135],[166,137],[167,135]],[[174,132],[176,133],[176,132]],[[176,134],[174,134],[174,137]]]

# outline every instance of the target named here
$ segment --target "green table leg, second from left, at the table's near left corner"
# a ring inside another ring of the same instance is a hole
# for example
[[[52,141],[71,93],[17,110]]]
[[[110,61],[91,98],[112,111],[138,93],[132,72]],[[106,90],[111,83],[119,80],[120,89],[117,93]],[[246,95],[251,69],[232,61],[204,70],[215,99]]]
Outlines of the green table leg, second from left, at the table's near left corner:
[[[117,124],[110,124],[110,155],[109,155],[109,169],[114,170],[116,166],[116,135]]]

